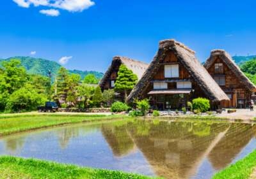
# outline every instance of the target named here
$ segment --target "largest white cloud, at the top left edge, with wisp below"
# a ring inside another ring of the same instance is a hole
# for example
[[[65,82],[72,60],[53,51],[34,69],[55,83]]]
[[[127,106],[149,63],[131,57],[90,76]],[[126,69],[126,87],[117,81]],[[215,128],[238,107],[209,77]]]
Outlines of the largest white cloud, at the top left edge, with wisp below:
[[[34,6],[45,6],[49,8],[67,10],[70,12],[83,11],[95,5],[95,2],[93,2],[93,0],[13,0],[13,1],[23,8],[29,8],[29,6],[33,4]],[[41,10],[40,13],[42,13],[42,11],[46,11],[46,10]],[[44,13],[44,14],[49,15],[49,13]]]

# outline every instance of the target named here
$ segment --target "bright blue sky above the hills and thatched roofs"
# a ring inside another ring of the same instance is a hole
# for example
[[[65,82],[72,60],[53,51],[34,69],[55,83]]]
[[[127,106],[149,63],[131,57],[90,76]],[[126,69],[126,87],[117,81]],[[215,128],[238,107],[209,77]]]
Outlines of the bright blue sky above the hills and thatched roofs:
[[[200,61],[214,48],[256,54],[253,0],[15,1],[1,2],[0,58],[35,51],[31,56],[56,62],[69,57],[68,69],[104,72],[115,55],[152,61],[159,40],[168,38]]]

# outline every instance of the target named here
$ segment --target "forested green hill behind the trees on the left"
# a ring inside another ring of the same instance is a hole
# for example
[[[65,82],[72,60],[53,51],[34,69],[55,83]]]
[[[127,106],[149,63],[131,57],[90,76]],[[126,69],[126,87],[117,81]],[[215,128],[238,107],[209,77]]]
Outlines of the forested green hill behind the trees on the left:
[[[39,58],[33,58],[33,57],[10,57],[8,59],[0,59],[1,61],[10,61],[11,59],[19,59],[22,66],[26,68],[29,74],[36,74],[36,75],[43,75],[47,76],[48,71],[50,70],[52,72],[52,76],[56,76],[58,70],[61,68],[61,65],[54,61],[49,61],[46,59],[39,59]],[[81,71],[77,69],[68,70],[70,73],[78,74],[81,76],[81,79],[84,78],[84,76],[92,73],[97,78],[102,78],[103,73],[97,72],[97,71]]]

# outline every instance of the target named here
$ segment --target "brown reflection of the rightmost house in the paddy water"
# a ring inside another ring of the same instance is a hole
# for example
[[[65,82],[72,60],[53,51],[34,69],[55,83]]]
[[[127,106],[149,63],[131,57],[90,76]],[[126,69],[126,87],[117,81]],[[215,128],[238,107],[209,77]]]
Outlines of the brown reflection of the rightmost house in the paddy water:
[[[225,168],[256,134],[256,125],[232,124],[227,134],[214,147],[209,160],[214,169]]]

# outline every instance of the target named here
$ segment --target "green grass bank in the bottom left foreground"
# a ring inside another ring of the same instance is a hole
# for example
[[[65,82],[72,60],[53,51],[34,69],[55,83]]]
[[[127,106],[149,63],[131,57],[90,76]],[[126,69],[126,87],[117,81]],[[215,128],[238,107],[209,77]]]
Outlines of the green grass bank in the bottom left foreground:
[[[0,178],[83,178],[83,179],[147,179],[150,177],[121,171],[79,168],[55,162],[17,157],[0,157]]]

